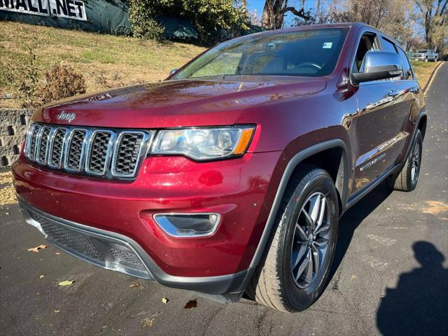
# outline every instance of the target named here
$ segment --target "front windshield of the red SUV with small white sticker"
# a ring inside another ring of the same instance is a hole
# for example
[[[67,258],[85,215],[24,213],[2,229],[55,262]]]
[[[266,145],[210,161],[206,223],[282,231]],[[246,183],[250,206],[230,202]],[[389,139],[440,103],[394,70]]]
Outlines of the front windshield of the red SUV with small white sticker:
[[[217,45],[174,75],[326,76],[335,69],[347,28],[257,34]]]

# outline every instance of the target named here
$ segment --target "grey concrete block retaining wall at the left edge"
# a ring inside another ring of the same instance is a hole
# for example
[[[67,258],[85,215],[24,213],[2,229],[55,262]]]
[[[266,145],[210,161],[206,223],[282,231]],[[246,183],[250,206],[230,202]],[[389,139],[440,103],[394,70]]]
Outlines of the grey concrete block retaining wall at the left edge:
[[[0,108],[0,168],[17,160],[34,110]]]

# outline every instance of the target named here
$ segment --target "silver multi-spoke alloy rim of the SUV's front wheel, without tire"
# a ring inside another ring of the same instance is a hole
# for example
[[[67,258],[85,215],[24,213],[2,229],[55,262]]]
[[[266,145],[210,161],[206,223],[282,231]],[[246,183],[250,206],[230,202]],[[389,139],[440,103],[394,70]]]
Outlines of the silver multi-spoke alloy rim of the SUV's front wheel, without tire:
[[[322,193],[308,197],[300,210],[291,248],[291,270],[295,284],[307,288],[316,279],[328,251],[330,211]]]

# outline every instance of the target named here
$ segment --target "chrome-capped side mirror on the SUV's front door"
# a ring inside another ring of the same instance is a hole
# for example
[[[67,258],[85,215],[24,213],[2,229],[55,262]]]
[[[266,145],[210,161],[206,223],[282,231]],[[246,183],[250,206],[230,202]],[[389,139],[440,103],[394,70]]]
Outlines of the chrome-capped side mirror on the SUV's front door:
[[[402,75],[401,59],[395,52],[367,51],[360,72],[352,73],[356,83]]]

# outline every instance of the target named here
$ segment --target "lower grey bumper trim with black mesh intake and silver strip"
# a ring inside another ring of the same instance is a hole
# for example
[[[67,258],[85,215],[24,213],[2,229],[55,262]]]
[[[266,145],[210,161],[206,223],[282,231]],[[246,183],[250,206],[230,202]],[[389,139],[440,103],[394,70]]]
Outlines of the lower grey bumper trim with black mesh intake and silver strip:
[[[245,269],[224,276],[170,276],[129,237],[45,214],[23,200],[19,204],[25,221],[40,230],[51,244],[99,267],[155,280],[168,287],[195,290],[224,301],[239,299],[245,278],[251,273]]]

